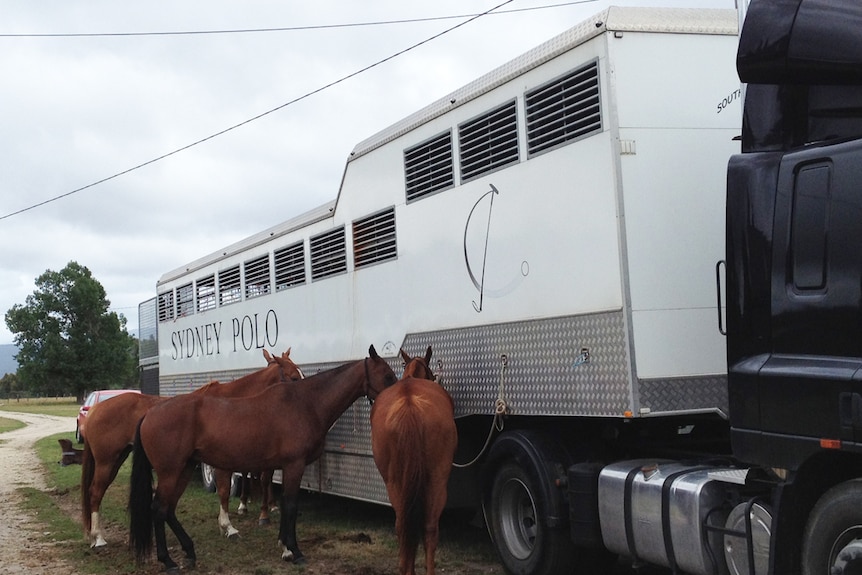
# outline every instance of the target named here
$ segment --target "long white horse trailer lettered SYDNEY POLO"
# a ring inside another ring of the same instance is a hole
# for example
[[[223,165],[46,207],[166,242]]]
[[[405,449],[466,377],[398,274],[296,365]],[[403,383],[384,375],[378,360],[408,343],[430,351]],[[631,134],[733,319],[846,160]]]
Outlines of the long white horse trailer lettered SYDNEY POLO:
[[[610,8],[360,142],[336,200],[159,279],[144,373],[173,395],[261,368],[261,348],[309,374],[431,345],[475,462],[450,505],[484,503],[501,555],[541,572],[577,521],[554,487],[569,465],[726,426],[737,27]],[[367,402],[303,486],[387,502]]]

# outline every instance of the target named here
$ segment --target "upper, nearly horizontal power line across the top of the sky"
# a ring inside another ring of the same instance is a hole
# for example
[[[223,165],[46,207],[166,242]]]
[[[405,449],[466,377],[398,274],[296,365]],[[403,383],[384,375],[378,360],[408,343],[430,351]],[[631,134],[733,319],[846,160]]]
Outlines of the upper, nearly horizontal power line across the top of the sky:
[[[367,26],[389,26],[394,24],[414,24],[419,22],[435,22],[440,20],[456,20],[463,18],[475,19],[486,15],[514,14],[518,12],[530,12],[534,10],[547,10],[550,8],[562,8],[576,4],[591,4],[598,0],[576,0],[560,4],[546,4],[543,6],[531,6],[529,8],[513,8],[510,10],[489,11],[479,14],[456,14],[450,16],[429,16],[427,18],[406,18],[402,20],[378,20],[370,22],[350,22],[346,24],[315,24],[309,26],[285,26],[279,28],[240,28],[227,30],[182,30],[174,32],[58,32],[58,33],[35,33],[35,34],[2,34],[0,38],[102,38],[102,37],[134,37],[134,36],[202,36],[214,34],[259,34],[267,32],[297,32],[306,30],[327,30],[337,28],[361,28]],[[493,14],[491,14],[493,12]],[[469,22],[468,20],[467,22]],[[466,22],[465,22],[466,23]]]

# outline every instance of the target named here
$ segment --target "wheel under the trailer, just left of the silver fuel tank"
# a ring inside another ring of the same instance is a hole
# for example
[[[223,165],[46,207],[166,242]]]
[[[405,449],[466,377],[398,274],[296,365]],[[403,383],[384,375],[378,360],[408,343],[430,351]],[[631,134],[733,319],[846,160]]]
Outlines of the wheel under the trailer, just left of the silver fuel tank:
[[[516,463],[505,463],[494,476],[488,509],[488,528],[508,573],[556,575],[575,564],[566,529],[548,527],[541,518],[555,515],[546,509],[538,479]]]

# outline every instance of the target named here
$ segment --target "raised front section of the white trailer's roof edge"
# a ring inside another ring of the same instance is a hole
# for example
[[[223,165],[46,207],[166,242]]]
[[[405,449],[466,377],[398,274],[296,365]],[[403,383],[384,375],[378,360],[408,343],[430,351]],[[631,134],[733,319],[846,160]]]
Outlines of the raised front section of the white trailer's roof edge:
[[[457,106],[478,98],[521,74],[605,32],[652,32],[664,34],[715,34],[735,36],[739,22],[736,10],[701,8],[633,8],[611,6],[562,34],[480,76],[466,86],[440,98],[403,120],[381,130],[353,148],[348,162],[379,148]]]

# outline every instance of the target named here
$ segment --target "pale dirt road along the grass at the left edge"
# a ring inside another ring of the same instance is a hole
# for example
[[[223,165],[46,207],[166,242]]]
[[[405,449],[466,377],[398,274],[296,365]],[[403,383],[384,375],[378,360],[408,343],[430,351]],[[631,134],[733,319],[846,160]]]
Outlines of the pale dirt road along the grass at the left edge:
[[[0,412],[27,424],[0,434],[0,575],[44,573],[74,575],[75,570],[58,564],[50,546],[40,541],[32,517],[22,514],[19,487],[45,489],[42,468],[33,444],[47,435],[75,429],[75,418]],[[58,448],[59,455],[59,448]]]

